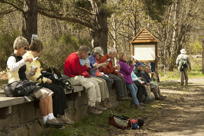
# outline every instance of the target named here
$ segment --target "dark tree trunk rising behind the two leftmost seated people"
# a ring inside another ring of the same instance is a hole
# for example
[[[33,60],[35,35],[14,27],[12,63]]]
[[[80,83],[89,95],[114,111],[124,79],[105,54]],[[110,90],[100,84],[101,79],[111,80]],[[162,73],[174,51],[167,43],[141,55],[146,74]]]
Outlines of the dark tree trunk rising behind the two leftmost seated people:
[[[23,36],[31,42],[32,34],[37,34],[37,0],[26,0],[23,12]]]

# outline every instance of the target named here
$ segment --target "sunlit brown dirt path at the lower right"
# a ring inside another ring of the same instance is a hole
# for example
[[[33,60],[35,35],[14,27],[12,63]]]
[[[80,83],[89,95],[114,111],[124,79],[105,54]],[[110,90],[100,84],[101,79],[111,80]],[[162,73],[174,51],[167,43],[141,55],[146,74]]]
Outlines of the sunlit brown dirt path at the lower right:
[[[204,79],[192,79],[189,86],[177,81],[165,82],[162,102],[156,118],[147,119],[143,130],[128,130],[120,136],[204,136]]]

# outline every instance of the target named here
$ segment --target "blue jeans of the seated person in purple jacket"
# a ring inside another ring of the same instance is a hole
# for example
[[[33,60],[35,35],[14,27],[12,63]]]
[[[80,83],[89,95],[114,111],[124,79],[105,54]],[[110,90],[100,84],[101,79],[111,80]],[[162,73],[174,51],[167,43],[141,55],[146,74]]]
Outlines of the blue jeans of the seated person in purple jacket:
[[[133,103],[136,105],[139,105],[139,101],[137,98],[137,91],[138,91],[137,86],[134,83],[132,83],[132,84],[127,84],[127,88],[130,90],[130,93],[133,99]]]

